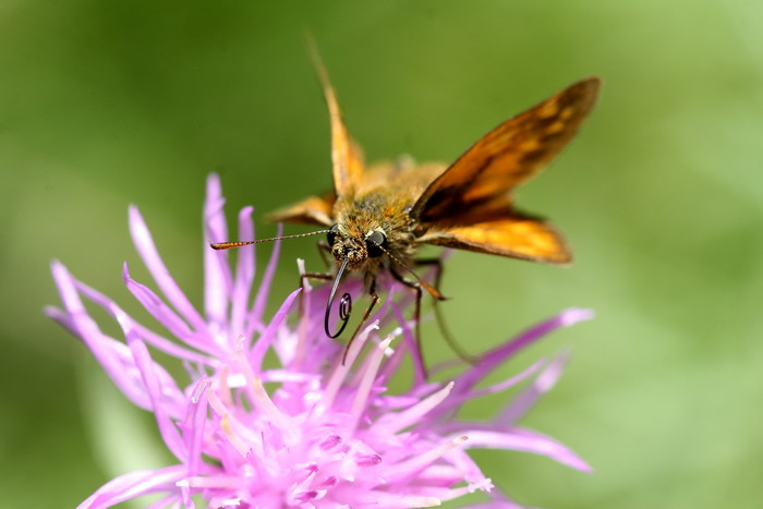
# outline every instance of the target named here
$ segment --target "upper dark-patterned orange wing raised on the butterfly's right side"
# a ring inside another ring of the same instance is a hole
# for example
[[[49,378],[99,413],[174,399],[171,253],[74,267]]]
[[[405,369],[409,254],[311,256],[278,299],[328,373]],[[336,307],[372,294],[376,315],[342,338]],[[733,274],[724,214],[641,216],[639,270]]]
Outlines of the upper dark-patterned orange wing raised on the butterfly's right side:
[[[591,111],[598,87],[597,77],[583,80],[498,125],[424,191],[412,209],[414,217],[436,222],[480,216],[483,207],[509,207],[508,193],[572,138]]]

